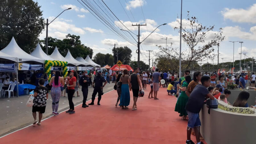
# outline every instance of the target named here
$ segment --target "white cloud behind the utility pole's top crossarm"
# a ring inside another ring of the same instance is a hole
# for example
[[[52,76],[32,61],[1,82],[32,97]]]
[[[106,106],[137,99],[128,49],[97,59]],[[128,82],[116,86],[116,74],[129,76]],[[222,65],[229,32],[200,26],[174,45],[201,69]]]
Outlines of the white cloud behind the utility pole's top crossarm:
[[[120,20],[124,25],[125,27],[127,27],[128,29],[130,29],[131,31],[135,31],[136,33],[138,33],[138,28],[135,27],[135,26],[132,26],[135,25],[135,24],[147,24],[147,26],[141,26],[140,27],[140,31],[153,31],[154,29],[156,29],[156,27],[158,26],[156,21],[155,20],[150,20],[150,19],[146,19],[146,22],[144,20],[140,20],[138,23],[136,22],[131,22],[131,21],[123,21],[123,20]],[[115,21],[115,24],[121,29],[124,29],[124,30],[127,30],[120,21]],[[159,28],[157,28],[155,30],[155,32],[158,32],[160,31]],[[129,34],[128,34],[129,35]]]

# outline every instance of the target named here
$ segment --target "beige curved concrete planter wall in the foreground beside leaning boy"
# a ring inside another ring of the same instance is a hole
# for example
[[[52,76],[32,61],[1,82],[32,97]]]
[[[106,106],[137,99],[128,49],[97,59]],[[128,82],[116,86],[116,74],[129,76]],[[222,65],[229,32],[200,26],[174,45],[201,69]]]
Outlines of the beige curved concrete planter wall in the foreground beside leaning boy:
[[[256,111],[256,110],[254,110]],[[200,111],[200,132],[208,144],[253,144],[256,143],[256,113],[239,114],[210,109],[206,105]]]

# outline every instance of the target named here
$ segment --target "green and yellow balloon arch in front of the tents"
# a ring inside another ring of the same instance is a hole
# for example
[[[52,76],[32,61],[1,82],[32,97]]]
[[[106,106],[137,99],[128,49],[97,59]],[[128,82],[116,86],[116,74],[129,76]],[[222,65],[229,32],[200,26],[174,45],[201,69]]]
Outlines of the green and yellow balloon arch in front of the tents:
[[[48,74],[48,81],[51,80],[51,68],[54,66],[62,67],[62,74],[64,77],[68,75],[68,62],[67,61],[60,61],[60,60],[45,60],[44,61],[44,72]]]

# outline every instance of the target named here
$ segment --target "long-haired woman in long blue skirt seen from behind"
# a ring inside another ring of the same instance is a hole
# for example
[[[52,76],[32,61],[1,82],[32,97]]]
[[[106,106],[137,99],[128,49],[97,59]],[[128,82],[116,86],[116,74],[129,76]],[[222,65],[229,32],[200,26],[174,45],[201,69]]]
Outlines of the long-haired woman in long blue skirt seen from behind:
[[[120,82],[122,82],[121,86],[121,97],[120,97],[120,104],[119,106],[127,109],[130,104],[130,92],[129,88],[131,90],[131,84],[130,84],[130,78],[128,75],[128,70],[125,69],[123,71],[123,75],[120,77]]]

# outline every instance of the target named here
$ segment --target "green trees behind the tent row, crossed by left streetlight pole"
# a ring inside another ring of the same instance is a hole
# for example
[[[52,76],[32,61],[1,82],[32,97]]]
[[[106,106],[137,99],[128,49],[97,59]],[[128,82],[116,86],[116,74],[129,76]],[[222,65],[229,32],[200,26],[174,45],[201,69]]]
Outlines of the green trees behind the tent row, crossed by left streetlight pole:
[[[41,47],[45,52],[45,40],[41,40]],[[42,43],[44,46],[42,46]],[[68,34],[66,38],[63,40],[52,38],[51,36],[48,37],[48,54],[51,55],[54,51],[55,46],[58,47],[58,50],[62,56],[66,56],[68,50],[72,54],[74,58],[76,57],[83,57],[86,58],[87,55],[92,58],[93,51],[90,47],[85,46],[80,41],[80,36]]]

